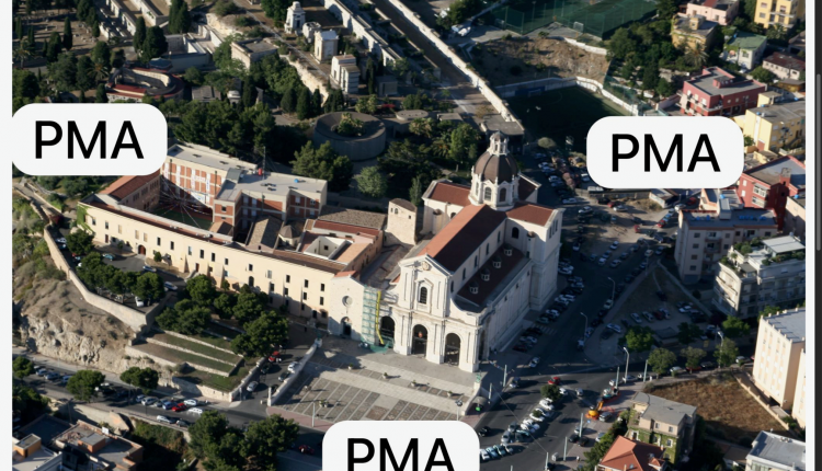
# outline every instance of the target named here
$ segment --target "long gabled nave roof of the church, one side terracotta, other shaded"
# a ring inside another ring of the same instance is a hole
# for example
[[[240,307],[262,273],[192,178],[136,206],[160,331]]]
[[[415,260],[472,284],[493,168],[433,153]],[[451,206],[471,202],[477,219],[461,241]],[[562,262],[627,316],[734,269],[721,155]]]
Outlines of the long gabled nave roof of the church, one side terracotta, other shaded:
[[[427,254],[455,272],[504,221],[505,212],[486,205],[469,205],[431,239],[420,255]]]

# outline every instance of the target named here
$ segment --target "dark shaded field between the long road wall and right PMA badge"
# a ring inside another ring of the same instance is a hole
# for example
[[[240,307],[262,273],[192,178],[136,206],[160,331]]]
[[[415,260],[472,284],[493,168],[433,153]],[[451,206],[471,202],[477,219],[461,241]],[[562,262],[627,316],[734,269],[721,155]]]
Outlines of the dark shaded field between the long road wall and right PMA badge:
[[[606,116],[628,116],[628,112],[580,87],[552,90],[536,96],[509,99],[509,105],[534,137],[550,137],[564,146],[573,136],[573,150],[585,153],[585,138],[591,126]],[[537,110],[539,106],[540,110]]]

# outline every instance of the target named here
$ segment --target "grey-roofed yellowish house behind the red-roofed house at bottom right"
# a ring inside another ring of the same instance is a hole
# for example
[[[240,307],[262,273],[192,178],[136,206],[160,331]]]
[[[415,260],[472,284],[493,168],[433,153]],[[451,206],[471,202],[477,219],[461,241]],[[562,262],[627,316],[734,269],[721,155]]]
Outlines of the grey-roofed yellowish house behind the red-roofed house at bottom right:
[[[696,407],[638,392],[631,399],[626,438],[657,445],[662,449],[658,459],[676,466],[690,453],[696,429]]]

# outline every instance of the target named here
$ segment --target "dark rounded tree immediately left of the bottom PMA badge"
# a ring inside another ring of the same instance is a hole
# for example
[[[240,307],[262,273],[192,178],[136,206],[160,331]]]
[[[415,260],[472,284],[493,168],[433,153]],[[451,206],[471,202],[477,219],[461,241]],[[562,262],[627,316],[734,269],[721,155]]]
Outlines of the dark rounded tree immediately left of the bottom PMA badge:
[[[249,461],[265,463],[262,468],[277,469],[277,457],[297,439],[299,426],[278,414],[252,422],[242,441],[242,456]]]

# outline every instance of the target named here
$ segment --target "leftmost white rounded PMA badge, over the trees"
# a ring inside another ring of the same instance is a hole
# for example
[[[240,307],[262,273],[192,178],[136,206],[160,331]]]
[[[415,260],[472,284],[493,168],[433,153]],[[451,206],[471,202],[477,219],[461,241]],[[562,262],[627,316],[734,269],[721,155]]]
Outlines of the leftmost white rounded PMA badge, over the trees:
[[[11,125],[12,161],[30,175],[148,175],[165,160],[165,116],[145,103],[34,103]]]

